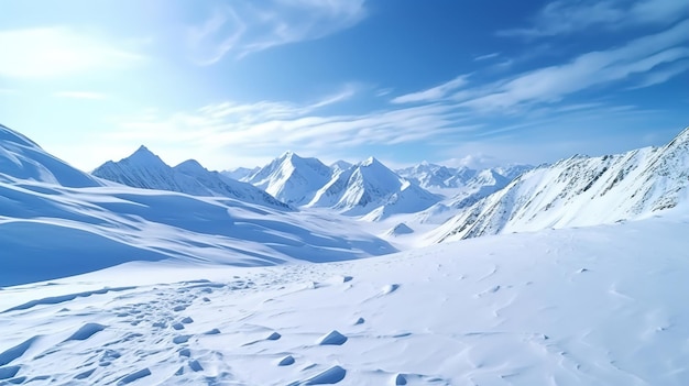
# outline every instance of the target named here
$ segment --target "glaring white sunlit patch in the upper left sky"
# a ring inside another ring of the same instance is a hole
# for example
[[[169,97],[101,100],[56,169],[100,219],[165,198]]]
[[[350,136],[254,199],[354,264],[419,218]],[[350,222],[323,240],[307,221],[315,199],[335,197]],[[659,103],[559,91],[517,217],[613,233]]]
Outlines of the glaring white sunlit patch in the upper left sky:
[[[143,57],[66,27],[0,31],[0,77],[48,78],[125,68]]]

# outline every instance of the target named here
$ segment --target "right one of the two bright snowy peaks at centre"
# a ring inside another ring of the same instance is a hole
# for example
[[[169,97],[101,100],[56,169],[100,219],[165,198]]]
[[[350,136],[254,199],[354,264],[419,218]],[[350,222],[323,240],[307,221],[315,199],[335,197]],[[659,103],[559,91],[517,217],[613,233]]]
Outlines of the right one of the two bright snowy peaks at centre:
[[[438,202],[439,197],[400,177],[374,157],[340,170],[320,188],[310,207],[329,207],[348,216],[381,220],[413,213]]]

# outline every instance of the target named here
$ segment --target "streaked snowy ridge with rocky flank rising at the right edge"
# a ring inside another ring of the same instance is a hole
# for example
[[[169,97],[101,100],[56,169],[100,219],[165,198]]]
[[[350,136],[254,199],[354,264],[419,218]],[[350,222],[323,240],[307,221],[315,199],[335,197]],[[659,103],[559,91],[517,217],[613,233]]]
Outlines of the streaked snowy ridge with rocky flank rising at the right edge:
[[[688,197],[689,129],[664,147],[573,156],[523,174],[440,227],[439,241],[652,216]]]

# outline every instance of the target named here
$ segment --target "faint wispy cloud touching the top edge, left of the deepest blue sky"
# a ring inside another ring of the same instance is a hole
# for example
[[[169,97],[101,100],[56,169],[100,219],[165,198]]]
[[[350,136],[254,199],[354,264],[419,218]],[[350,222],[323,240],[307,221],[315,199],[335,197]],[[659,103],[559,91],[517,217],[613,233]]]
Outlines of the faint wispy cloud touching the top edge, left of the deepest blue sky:
[[[211,65],[274,46],[316,40],[348,29],[367,15],[365,0],[270,0],[227,2],[205,23],[192,26],[187,44],[194,60]]]

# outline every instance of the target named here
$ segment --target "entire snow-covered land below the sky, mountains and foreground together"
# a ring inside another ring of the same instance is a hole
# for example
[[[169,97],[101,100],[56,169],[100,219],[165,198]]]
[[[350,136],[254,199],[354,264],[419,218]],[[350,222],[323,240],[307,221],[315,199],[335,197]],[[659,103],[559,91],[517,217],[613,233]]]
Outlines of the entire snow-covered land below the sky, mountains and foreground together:
[[[0,125],[0,384],[687,384],[689,129],[528,170],[278,159],[244,178],[288,207]]]

